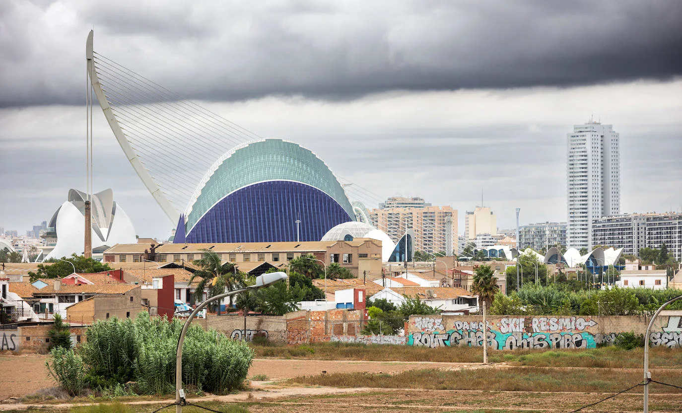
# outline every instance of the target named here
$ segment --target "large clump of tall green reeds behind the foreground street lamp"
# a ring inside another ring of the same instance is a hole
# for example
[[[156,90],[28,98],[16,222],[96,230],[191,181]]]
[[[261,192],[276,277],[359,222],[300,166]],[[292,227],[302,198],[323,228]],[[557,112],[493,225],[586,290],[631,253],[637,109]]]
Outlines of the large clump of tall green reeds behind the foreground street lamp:
[[[93,388],[136,382],[140,393],[169,393],[175,388],[175,357],[182,326],[181,320],[152,318],[147,313],[138,314],[134,320],[100,320],[88,328],[87,342],[77,354],[57,354],[53,363],[82,357],[85,380]],[[228,393],[241,386],[253,356],[245,343],[192,325],[183,347],[183,384],[201,391]]]

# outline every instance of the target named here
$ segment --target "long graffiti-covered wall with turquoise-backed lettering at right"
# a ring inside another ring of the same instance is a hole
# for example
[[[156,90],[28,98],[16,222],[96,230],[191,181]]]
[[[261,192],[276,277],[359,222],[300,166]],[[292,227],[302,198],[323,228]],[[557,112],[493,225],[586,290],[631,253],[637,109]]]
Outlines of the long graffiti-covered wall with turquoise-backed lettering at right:
[[[653,326],[651,346],[682,347],[682,311],[666,311]],[[649,318],[638,316],[493,316],[485,337],[491,350],[518,348],[595,348],[619,333],[644,334]],[[481,316],[412,316],[406,331],[409,346],[483,346]]]

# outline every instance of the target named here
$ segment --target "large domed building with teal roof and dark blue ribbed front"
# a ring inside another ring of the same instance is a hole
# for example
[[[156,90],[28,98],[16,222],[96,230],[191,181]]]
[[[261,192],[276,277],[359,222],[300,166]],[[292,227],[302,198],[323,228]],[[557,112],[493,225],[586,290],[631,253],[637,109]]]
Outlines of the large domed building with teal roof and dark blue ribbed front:
[[[263,139],[233,148],[209,168],[173,242],[319,241],[355,220],[327,164],[293,142]]]

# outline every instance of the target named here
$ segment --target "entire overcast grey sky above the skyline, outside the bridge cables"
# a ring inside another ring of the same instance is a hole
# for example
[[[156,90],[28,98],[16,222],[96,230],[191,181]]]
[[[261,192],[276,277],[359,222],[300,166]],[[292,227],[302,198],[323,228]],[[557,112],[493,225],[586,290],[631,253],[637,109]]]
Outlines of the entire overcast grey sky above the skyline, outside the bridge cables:
[[[85,188],[85,39],[379,197],[566,220],[566,134],[621,134],[621,211],[682,211],[682,2],[0,1],[0,226]],[[170,223],[95,111],[94,189]],[[371,206],[371,205],[370,205]]]

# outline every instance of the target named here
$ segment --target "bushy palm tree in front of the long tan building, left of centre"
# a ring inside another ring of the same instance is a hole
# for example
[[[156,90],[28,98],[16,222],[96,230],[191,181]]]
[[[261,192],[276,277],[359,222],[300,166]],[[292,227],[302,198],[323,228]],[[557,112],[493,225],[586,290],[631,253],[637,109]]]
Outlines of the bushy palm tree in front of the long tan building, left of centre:
[[[205,288],[208,288],[208,296],[212,297],[224,293],[225,290],[233,291],[243,286],[246,277],[237,271],[234,264],[231,262],[223,263],[220,255],[210,249],[203,249],[203,251],[201,260],[194,261],[194,265],[200,269],[192,274],[188,283],[191,285],[194,279],[199,279],[194,290],[198,292],[198,294],[194,294],[194,303]],[[232,305],[232,296],[230,297],[230,305]]]

